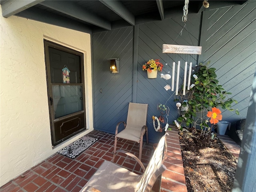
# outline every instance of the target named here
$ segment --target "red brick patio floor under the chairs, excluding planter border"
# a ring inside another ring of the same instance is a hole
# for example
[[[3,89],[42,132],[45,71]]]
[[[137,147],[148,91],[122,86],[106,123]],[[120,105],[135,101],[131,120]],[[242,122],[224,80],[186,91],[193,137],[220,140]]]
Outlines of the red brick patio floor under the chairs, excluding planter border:
[[[98,138],[98,141],[75,159],[55,153],[2,186],[0,192],[78,192],[104,160],[112,160],[114,150],[114,135],[98,131],[87,135]],[[117,148],[121,146],[139,155],[138,143],[119,139]],[[142,162],[145,167],[151,158],[152,149],[152,144],[143,142]],[[115,162],[142,174],[140,165],[129,157],[116,156]]]

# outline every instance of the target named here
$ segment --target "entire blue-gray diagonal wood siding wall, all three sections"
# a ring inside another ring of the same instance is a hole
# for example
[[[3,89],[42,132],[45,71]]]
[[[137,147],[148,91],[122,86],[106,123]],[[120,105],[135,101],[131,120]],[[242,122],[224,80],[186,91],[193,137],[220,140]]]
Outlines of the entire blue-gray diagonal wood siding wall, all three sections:
[[[129,102],[148,103],[149,140],[156,142],[161,135],[155,132],[152,124],[152,116],[160,116],[157,105],[166,104],[170,108],[169,124],[178,118],[175,92],[164,89],[167,84],[171,85],[172,79],[160,78],[161,73],[170,72],[172,75],[172,62],[177,63],[178,60],[181,61],[179,86],[183,82],[185,61],[195,66],[210,60],[210,66],[216,68],[220,84],[238,101],[234,108],[238,108],[240,115],[223,111],[223,120],[234,123],[246,118],[256,66],[255,2],[204,11],[202,21],[201,16],[188,14],[185,28],[181,18],[174,17],[136,25],[136,30],[131,26],[92,34],[96,130],[114,134],[117,122],[126,121]],[[135,48],[134,44],[138,47]],[[162,44],[200,44],[202,55],[163,54]],[[110,73],[108,58],[120,59],[118,74]],[[142,65],[149,59],[160,59],[164,64],[156,79],[148,79],[146,71],[142,71]]]

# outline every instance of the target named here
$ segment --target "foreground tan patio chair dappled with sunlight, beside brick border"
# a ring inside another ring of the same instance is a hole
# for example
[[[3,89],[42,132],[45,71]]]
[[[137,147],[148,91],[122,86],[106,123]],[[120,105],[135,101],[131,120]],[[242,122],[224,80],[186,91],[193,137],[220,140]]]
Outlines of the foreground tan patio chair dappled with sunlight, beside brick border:
[[[158,176],[166,170],[166,166],[163,165],[167,154],[166,134],[160,139],[146,169],[133,154],[124,150],[116,151],[134,158],[144,171],[142,175],[114,164],[114,153],[112,162],[104,161],[80,192],[150,192]]]

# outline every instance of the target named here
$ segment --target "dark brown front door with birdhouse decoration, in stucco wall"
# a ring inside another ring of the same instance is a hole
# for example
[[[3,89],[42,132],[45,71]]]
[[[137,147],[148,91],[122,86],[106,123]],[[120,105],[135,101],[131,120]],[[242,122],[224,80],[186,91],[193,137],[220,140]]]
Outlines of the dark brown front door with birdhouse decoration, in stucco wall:
[[[86,129],[83,54],[44,40],[52,145]]]

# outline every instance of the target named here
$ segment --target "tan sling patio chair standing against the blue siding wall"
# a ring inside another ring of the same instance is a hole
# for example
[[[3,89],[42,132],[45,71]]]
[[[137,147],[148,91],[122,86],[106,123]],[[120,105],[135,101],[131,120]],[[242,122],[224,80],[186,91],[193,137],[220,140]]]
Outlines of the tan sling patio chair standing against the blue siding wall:
[[[139,159],[142,156],[143,136],[146,133],[146,142],[148,144],[148,127],[146,126],[148,113],[148,104],[129,103],[126,123],[119,122],[116,125],[114,152],[116,152],[117,138],[122,138],[140,143]],[[118,133],[120,124],[124,124],[124,130]]]

